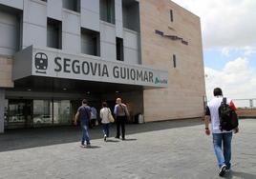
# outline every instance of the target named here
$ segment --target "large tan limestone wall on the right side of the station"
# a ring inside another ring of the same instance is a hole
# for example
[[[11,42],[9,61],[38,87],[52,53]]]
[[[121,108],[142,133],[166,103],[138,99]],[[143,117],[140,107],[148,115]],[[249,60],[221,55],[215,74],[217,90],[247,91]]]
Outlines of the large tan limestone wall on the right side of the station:
[[[144,90],[145,121],[203,116],[205,85],[200,18],[169,0],[140,1],[139,6],[142,64],[169,73],[168,88]],[[188,45],[162,37],[155,30],[177,35]]]

